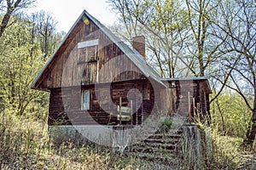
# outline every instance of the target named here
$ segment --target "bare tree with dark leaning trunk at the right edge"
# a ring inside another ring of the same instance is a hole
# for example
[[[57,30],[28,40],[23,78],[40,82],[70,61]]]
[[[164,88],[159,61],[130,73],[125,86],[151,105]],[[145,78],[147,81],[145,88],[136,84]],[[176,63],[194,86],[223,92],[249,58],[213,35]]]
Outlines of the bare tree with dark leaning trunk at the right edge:
[[[224,20],[214,22],[229,38],[224,47],[230,57],[223,60],[232,69],[228,88],[241,95],[252,114],[243,145],[252,147],[256,134],[256,6],[253,0],[224,1],[219,8]]]

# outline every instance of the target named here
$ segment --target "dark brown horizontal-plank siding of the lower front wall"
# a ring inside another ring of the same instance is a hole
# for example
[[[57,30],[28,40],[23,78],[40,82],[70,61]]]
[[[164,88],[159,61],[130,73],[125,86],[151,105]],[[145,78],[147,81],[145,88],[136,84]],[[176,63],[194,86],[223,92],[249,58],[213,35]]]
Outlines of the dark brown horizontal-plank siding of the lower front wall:
[[[144,84],[149,84],[148,89],[143,89]],[[108,89],[110,87],[110,89]],[[150,92],[149,99],[142,99],[138,93],[134,93],[137,89],[140,94],[143,90]],[[81,110],[81,92],[82,90],[90,90],[90,110]],[[110,92],[110,95],[108,94]],[[99,96],[100,99],[97,99]],[[108,96],[113,102],[109,102]],[[111,124],[119,123],[117,116],[119,111],[119,97],[122,98],[122,106],[131,107],[129,100],[132,102],[132,111],[134,112],[131,121],[122,124],[141,124],[145,121],[153,111],[154,107],[154,90],[150,86],[150,82],[142,80],[134,80],[129,82],[115,82],[112,84],[85,85],[82,88],[52,88],[50,91],[49,101],[49,125],[90,125],[90,124]],[[141,104],[141,102],[143,103]],[[104,108],[104,110],[102,109]],[[136,111],[137,108],[137,111]],[[109,113],[112,113],[110,115]],[[131,116],[131,113],[122,113]]]

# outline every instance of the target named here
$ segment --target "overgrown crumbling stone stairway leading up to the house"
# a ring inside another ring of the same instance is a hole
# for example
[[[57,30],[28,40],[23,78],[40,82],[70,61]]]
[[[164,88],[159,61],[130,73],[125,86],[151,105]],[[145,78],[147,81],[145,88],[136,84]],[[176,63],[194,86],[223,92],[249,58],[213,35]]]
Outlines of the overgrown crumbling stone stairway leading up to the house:
[[[157,162],[166,166],[177,164],[177,154],[181,151],[180,139],[183,137],[182,129],[168,133],[156,132],[138,144],[133,144],[125,150],[126,156]]]

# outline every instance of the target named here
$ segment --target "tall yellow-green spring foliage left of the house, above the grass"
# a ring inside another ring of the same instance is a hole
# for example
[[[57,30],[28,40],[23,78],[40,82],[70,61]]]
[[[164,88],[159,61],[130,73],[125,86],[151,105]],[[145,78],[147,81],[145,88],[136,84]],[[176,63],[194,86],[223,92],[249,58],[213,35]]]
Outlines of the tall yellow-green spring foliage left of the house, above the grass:
[[[0,38],[0,103],[5,111],[17,115],[46,116],[48,94],[29,88],[44,60],[33,41],[32,23],[19,19]],[[39,109],[43,107],[45,110]],[[43,111],[43,112],[42,112]]]

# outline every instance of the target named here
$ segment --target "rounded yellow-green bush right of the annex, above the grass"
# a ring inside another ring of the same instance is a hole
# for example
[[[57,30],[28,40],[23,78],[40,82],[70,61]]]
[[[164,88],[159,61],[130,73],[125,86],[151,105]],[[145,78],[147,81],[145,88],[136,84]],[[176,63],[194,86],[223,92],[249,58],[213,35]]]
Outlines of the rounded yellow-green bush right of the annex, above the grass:
[[[212,127],[219,133],[244,138],[252,113],[239,94],[226,93],[212,103],[211,116]]]

